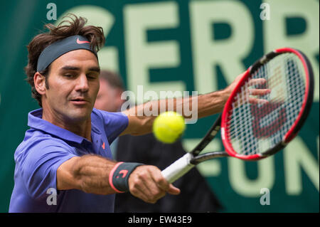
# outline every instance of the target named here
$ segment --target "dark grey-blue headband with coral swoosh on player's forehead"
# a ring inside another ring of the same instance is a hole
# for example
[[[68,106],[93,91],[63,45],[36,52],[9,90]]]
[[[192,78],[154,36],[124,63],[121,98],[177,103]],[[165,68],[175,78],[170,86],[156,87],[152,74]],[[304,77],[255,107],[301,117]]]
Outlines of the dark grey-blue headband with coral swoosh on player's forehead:
[[[70,36],[47,46],[38,58],[37,71],[45,70],[53,60],[59,58],[65,53],[85,49],[91,51],[97,57],[97,53],[90,48],[90,42],[83,36]]]

